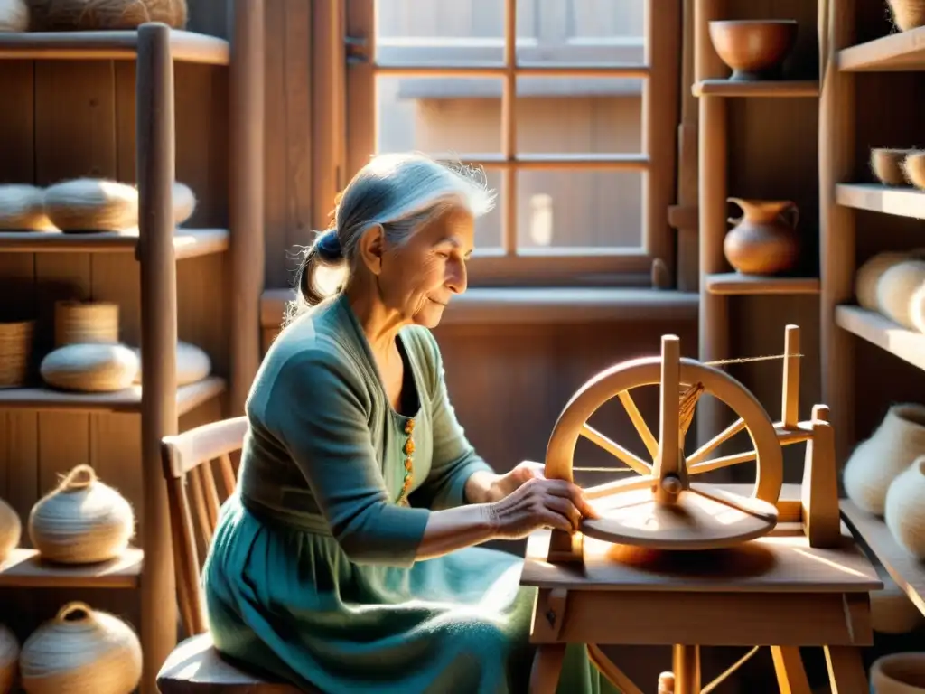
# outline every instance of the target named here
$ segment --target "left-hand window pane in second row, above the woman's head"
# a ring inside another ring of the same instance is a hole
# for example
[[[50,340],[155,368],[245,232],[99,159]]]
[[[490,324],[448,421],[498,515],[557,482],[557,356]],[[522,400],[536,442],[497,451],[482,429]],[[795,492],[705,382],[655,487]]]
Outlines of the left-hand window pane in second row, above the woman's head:
[[[377,151],[497,157],[500,99],[484,96],[492,88],[500,93],[499,80],[376,78]]]

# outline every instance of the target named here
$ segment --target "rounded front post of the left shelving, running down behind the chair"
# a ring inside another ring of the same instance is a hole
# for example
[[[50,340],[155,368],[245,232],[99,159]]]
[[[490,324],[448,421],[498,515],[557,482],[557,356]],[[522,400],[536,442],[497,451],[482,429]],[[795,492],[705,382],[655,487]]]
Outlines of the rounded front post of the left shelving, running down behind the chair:
[[[161,439],[177,433],[177,266],[172,188],[175,177],[174,80],[170,30],[138,31],[136,147],[142,283],[142,694],[177,644],[170,516]]]

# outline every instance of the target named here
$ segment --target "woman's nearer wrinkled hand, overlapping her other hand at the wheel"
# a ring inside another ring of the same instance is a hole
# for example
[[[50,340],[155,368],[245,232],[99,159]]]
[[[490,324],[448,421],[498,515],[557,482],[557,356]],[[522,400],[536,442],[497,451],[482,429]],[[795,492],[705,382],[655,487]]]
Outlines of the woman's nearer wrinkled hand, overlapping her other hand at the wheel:
[[[496,538],[522,539],[540,527],[565,532],[578,529],[582,518],[597,518],[581,488],[564,479],[528,479],[517,490],[488,504]]]

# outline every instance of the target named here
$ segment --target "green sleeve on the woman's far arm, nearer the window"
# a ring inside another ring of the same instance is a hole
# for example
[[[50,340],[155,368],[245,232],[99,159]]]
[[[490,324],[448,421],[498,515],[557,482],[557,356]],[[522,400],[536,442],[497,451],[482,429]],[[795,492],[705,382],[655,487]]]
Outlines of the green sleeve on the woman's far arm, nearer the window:
[[[434,510],[462,506],[466,502],[465,483],[469,477],[480,470],[489,473],[494,470],[475,452],[456,418],[437,340],[429,330],[422,329],[419,335],[430,381],[427,400],[433,422],[434,452],[430,474],[409,501]]]

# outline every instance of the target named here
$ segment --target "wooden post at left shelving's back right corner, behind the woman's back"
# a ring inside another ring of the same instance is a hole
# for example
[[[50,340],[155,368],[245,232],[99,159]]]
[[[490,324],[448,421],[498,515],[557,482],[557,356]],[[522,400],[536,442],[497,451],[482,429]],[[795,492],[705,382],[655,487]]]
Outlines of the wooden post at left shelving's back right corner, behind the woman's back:
[[[235,0],[228,37],[228,292],[231,297],[229,416],[244,402],[260,366],[264,291],[264,0]]]

